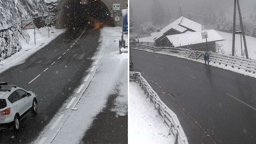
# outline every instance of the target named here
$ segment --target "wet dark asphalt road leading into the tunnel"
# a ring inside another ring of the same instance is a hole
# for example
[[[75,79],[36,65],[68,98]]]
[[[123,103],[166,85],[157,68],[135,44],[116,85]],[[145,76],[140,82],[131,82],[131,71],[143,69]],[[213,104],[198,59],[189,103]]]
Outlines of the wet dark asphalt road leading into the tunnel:
[[[38,98],[37,116],[26,116],[22,121],[22,130],[17,133],[1,130],[0,143],[31,142],[82,83],[82,78],[91,66],[90,58],[99,45],[100,36],[100,30],[89,29],[82,34],[83,30],[84,28],[67,30],[31,55],[23,64],[0,74],[0,81],[31,90]],[[29,84],[39,74],[41,75]]]

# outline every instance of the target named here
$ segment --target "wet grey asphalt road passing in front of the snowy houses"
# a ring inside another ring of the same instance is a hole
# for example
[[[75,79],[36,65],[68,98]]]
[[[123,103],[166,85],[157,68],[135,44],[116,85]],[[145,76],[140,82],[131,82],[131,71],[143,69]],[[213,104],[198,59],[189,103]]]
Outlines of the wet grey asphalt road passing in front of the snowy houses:
[[[255,78],[215,67],[206,71],[204,64],[169,55],[132,49],[131,56],[135,70],[148,76],[153,88],[158,86],[158,95],[167,106],[174,107],[177,102],[184,108],[173,110],[189,143],[256,143]],[[159,86],[177,96],[161,94]],[[191,115],[202,128],[192,129],[195,122],[185,115]],[[196,133],[204,131],[213,141],[200,140]]]

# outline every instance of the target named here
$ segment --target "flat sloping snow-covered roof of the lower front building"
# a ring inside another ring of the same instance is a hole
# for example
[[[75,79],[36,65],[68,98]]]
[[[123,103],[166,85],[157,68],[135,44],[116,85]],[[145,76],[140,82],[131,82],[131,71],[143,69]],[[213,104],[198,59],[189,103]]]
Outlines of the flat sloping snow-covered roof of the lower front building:
[[[184,34],[174,34],[166,36],[168,40],[175,46],[185,46],[188,44],[200,44],[206,42],[204,36],[207,32],[207,41],[214,42],[224,40],[215,30],[204,30],[201,32],[189,32]]]

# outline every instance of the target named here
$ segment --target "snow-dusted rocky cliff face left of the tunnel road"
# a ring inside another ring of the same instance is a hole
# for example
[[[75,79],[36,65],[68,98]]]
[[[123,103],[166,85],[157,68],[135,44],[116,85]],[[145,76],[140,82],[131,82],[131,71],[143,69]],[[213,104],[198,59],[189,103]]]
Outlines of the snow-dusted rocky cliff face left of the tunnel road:
[[[21,35],[22,19],[48,15],[50,11],[44,0],[0,0],[0,61],[22,49],[20,38],[28,42],[26,31]]]

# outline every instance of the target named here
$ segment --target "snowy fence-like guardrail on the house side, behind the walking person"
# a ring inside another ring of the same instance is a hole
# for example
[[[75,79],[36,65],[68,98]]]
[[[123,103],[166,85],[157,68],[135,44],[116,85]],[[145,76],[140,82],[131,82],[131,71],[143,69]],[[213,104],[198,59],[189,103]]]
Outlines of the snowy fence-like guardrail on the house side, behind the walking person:
[[[184,57],[189,57],[192,59],[204,59],[203,53],[204,51],[193,51],[190,49],[182,49],[182,48],[174,48],[174,47],[153,47],[146,44],[136,44],[136,46],[132,46],[131,48],[137,49],[149,49],[151,51],[163,51],[166,53],[176,53],[178,55],[182,55]],[[248,72],[256,72],[256,60],[254,59],[246,59],[238,56],[231,56],[222,53],[209,53],[210,61],[219,64],[225,64],[225,66],[231,66],[232,68],[236,67],[238,69],[243,69]]]

